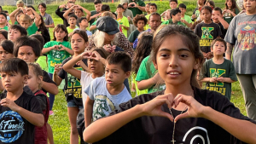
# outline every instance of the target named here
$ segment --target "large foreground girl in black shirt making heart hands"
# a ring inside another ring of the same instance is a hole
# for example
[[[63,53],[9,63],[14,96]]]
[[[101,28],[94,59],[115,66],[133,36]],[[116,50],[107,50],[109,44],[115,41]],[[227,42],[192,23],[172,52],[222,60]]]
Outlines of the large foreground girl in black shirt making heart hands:
[[[160,77],[165,79],[166,89],[137,96],[120,105],[120,110],[113,111],[109,117],[96,120],[84,130],[84,141],[122,144],[201,143],[202,140],[225,144],[256,142],[252,136],[256,135],[255,121],[243,116],[218,92],[199,89],[196,74],[204,58],[194,32],[184,26],[164,27],[155,34],[150,56]]]

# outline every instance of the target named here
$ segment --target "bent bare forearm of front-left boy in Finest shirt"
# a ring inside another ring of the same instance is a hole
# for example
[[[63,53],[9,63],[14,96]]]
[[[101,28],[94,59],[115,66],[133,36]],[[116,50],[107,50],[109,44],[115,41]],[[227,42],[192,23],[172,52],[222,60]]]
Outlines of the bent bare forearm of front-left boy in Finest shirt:
[[[18,112],[21,117],[25,118],[28,122],[35,126],[42,127],[44,125],[44,115],[42,113],[27,111],[26,109],[16,105],[15,101],[5,98],[1,100],[1,106],[9,107],[12,111]]]

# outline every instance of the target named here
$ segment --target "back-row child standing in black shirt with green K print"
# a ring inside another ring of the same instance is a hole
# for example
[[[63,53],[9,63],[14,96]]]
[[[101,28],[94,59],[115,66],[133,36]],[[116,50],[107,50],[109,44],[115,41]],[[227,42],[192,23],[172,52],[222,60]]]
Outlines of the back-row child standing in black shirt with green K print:
[[[212,58],[211,43],[214,39],[220,37],[221,31],[218,24],[212,22],[212,8],[204,6],[201,8],[201,17],[203,22],[195,26],[195,34],[201,38],[200,48],[206,59]]]

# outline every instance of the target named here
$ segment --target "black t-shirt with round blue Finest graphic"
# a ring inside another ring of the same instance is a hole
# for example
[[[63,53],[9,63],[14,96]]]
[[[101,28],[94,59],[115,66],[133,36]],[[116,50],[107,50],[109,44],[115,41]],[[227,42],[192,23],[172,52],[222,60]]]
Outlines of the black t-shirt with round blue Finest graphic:
[[[6,98],[6,93],[2,93],[0,96],[1,100],[4,98]],[[25,91],[15,101],[15,104],[30,112],[43,114],[36,96],[28,95]],[[0,106],[0,113],[0,143],[34,143],[35,126],[33,124],[9,107]]]

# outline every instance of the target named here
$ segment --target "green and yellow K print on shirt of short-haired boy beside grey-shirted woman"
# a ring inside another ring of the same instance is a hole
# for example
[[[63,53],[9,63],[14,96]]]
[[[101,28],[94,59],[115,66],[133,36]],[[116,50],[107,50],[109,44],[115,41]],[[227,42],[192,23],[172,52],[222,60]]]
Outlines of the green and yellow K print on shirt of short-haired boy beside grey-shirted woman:
[[[211,78],[223,77],[223,75],[225,73],[226,73],[225,69],[210,68]],[[222,95],[225,95],[225,93],[226,93],[226,88],[224,88],[224,83],[222,83],[222,82],[210,83],[209,86],[207,86],[207,89],[212,90],[212,91],[217,91],[218,93],[221,93]]]

